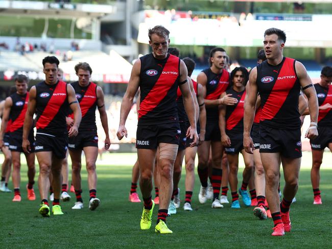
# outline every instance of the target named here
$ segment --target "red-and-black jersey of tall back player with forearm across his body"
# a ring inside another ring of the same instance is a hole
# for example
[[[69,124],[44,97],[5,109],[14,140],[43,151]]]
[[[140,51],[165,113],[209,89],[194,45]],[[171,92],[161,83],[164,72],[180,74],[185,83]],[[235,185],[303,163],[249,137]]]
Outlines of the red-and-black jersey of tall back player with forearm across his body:
[[[226,91],[229,84],[229,72],[225,69],[221,73],[212,72],[211,68],[206,68],[202,72],[206,74],[206,96],[205,99],[218,99]],[[219,116],[218,106],[205,107],[206,118],[217,118]]]

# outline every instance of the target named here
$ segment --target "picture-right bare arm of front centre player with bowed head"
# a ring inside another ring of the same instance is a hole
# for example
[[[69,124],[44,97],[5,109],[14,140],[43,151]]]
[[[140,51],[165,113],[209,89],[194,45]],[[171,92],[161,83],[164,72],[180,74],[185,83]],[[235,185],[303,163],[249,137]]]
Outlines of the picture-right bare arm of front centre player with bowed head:
[[[187,81],[188,71],[184,62],[180,60],[180,82]],[[189,87],[189,83],[179,85],[182,96],[183,96],[183,105],[185,112],[188,115],[190,127],[187,131],[187,136],[193,139],[193,142],[190,144],[191,147],[195,146],[198,142],[198,135],[196,130],[196,117],[195,117],[195,104],[192,96],[192,92]]]

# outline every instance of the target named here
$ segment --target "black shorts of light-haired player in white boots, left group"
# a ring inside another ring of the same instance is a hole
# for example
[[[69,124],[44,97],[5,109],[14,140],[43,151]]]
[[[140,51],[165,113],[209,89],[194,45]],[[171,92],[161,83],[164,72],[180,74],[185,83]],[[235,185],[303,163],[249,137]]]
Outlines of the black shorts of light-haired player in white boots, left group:
[[[79,132],[76,137],[69,137],[69,151],[83,150],[84,147],[98,147],[98,135],[96,131]]]

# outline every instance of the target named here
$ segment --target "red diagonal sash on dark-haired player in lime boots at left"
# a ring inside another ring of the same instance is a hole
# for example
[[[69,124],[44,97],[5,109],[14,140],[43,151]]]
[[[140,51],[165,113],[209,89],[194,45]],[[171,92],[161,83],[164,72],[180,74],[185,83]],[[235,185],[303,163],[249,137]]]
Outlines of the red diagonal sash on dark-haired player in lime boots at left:
[[[67,97],[67,84],[63,81],[59,81],[58,85],[53,91],[52,97],[50,98],[48,104],[46,105],[43,113],[40,115],[36,123],[37,129],[44,129],[53,120],[55,115],[57,115],[60,107],[64,103]],[[65,93],[64,95],[62,95]]]

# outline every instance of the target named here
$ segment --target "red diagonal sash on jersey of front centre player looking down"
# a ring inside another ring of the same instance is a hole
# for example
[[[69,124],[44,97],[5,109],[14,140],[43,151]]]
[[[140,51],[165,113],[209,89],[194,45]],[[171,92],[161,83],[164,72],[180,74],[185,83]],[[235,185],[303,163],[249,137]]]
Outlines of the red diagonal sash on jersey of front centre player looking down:
[[[178,57],[170,55],[162,71],[175,71],[180,73],[179,62],[180,60]],[[161,72],[160,77],[153,86],[153,88],[140,103],[138,110],[138,118],[146,115],[149,111],[152,111],[156,106],[159,105],[159,103],[174,85],[177,77],[178,75],[176,77],[173,77],[173,81],[171,81],[169,74]]]

